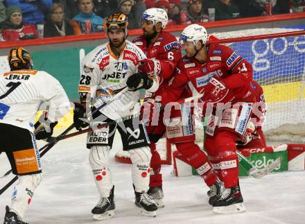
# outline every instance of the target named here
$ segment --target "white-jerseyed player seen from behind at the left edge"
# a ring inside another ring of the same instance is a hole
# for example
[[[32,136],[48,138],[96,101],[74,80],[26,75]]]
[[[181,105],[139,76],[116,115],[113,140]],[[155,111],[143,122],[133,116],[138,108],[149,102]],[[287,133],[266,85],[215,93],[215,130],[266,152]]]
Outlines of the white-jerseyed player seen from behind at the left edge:
[[[6,206],[4,224],[21,224],[26,223],[24,214],[42,180],[36,139],[51,137],[55,123],[69,112],[70,104],[58,80],[45,71],[32,69],[28,51],[11,49],[8,62],[10,71],[0,74],[0,153],[8,156],[19,182],[10,207]],[[42,102],[49,103],[49,115],[35,138],[33,122]]]

